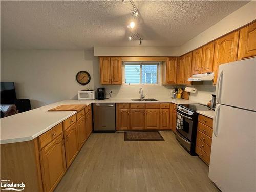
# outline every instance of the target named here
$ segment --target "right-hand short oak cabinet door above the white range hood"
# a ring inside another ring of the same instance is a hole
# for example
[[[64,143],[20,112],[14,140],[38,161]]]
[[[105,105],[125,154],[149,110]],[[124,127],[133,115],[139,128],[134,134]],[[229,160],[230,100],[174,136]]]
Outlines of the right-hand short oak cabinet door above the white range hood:
[[[202,68],[201,73],[210,73],[214,65],[214,42],[207,44],[202,50]]]

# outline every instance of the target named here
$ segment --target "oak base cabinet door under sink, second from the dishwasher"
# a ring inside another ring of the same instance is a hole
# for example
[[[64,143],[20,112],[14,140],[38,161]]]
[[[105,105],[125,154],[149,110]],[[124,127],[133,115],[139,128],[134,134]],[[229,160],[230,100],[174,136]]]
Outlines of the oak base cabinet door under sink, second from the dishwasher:
[[[144,109],[131,109],[131,129],[143,130],[145,125],[145,110]]]

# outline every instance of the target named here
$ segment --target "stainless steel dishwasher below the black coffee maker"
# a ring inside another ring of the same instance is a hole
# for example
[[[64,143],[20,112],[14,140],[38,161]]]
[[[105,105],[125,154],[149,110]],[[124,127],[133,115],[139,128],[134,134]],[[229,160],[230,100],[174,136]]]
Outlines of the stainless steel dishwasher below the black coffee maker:
[[[95,132],[116,131],[116,104],[94,103],[93,123]]]

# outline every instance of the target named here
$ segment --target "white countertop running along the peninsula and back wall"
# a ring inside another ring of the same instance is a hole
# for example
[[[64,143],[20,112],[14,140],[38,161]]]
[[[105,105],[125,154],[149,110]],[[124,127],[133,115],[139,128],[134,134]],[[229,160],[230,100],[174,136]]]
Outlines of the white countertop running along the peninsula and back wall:
[[[55,108],[56,106],[62,104],[86,104],[90,105],[92,103],[175,103],[175,104],[193,104],[198,103],[190,100],[176,100],[171,98],[156,98],[158,101],[132,101],[129,98],[126,99],[105,99],[105,100],[64,100],[60,102],[56,102],[53,104],[49,104],[46,106],[42,106],[40,108],[36,108],[30,111],[26,111],[23,113],[19,113],[16,115],[12,115],[9,117],[5,117],[0,119],[1,125],[1,135],[0,135],[0,143],[15,143],[15,142],[23,142],[30,141],[39,135],[47,132],[52,127],[62,122],[63,120],[69,118],[70,116],[76,114],[76,111],[61,111],[61,112],[49,112],[49,109]],[[205,104],[205,103],[203,103]],[[199,111],[200,114],[201,111]],[[198,112],[198,113],[199,113]],[[211,112],[211,111],[210,111]],[[210,113],[209,113],[210,114]],[[202,115],[207,116],[207,113],[204,112]],[[213,116],[213,114],[212,114]]]

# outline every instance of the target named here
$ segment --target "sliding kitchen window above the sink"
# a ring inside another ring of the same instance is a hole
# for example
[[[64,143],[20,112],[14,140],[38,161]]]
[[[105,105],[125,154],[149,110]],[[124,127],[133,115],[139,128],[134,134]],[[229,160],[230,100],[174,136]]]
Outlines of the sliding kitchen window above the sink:
[[[125,85],[159,85],[159,63],[124,63]]]

